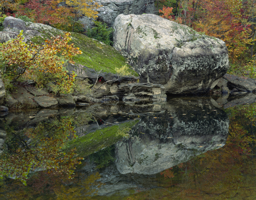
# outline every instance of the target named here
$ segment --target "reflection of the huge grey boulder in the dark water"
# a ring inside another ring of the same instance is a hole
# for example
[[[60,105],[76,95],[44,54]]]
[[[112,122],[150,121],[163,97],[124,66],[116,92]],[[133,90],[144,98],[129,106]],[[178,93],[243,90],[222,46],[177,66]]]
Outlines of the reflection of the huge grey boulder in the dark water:
[[[212,99],[173,98],[165,113],[142,116],[133,137],[116,143],[117,170],[155,174],[224,146],[229,120],[218,107]]]

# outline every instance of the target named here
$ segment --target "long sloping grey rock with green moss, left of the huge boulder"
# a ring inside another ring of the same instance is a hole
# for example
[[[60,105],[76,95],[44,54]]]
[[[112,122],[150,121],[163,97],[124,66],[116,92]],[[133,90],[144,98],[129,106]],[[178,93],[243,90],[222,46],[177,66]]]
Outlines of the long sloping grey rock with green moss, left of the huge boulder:
[[[31,41],[35,44],[44,43],[45,39],[50,39],[52,36],[64,34],[62,30],[51,26],[25,22],[14,17],[6,17],[3,25],[4,30],[3,32],[0,32],[0,35],[3,35],[3,38],[6,38],[6,40],[14,38],[16,36],[14,33],[19,33],[20,30],[23,30],[26,41]],[[104,74],[111,73],[115,75],[115,68],[120,68],[127,62],[126,59],[112,46],[88,38],[83,34],[72,33],[72,37],[73,40],[71,42],[74,43],[76,47],[79,47],[83,53],[74,58],[76,65],[68,65],[67,69],[70,72],[75,71],[77,76],[80,76],[79,73],[85,74],[87,71],[91,71],[94,74],[98,74],[99,71],[102,71]],[[3,40],[1,42],[6,41]],[[129,71],[133,75],[133,78],[138,76],[132,67],[129,67]],[[81,77],[84,77],[84,75],[81,75]]]

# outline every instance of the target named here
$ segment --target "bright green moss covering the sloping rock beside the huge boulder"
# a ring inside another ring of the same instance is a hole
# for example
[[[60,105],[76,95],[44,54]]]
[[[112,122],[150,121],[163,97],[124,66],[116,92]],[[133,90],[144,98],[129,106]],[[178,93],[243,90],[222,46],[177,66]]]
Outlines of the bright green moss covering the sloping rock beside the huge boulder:
[[[41,36],[34,36],[31,41],[36,44],[44,43],[45,39],[50,39],[52,36],[63,35],[62,30],[49,27],[43,24],[33,24],[27,22],[27,26],[33,27],[34,30],[40,32]],[[83,52],[80,55],[76,55],[74,60],[77,64],[84,65],[88,68],[93,68],[97,72],[100,70],[102,72],[116,74],[115,68],[120,68],[124,66],[127,62],[126,58],[122,56],[114,47],[106,45],[98,40],[89,38],[83,34],[72,33],[72,43],[76,47],[79,47]],[[132,67],[129,67],[129,72],[134,76],[139,76]]]

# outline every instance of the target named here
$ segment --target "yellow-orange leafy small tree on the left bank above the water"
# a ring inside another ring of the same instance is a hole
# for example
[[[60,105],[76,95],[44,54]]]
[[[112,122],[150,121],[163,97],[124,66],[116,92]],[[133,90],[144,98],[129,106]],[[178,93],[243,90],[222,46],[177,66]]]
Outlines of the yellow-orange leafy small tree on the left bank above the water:
[[[57,92],[70,92],[75,74],[68,76],[63,64],[66,61],[74,63],[72,57],[82,53],[74,44],[69,44],[71,39],[70,33],[65,33],[52,40],[46,39],[44,45],[27,44],[21,31],[17,38],[0,44],[2,75],[14,83],[27,71],[55,81]]]

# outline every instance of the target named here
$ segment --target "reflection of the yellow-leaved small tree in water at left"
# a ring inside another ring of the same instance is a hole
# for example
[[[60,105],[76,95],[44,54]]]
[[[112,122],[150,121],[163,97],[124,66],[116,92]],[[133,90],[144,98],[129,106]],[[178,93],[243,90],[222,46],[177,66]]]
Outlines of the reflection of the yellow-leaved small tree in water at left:
[[[36,126],[15,131],[6,127],[6,141],[1,155],[0,177],[20,179],[26,184],[30,172],[47,170],[48,173],[72,177],[78,157],[75,148],[65,152],[68,140],[76,138],[74,122],[88,123],[90,115],[60,117],[39,122]]]

